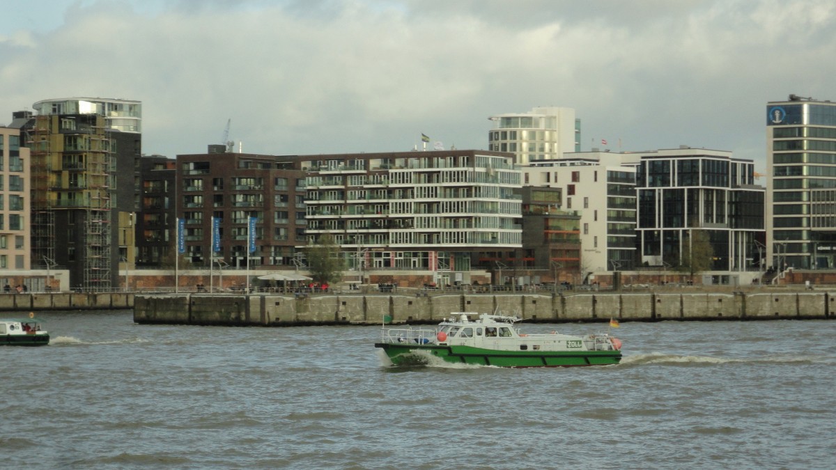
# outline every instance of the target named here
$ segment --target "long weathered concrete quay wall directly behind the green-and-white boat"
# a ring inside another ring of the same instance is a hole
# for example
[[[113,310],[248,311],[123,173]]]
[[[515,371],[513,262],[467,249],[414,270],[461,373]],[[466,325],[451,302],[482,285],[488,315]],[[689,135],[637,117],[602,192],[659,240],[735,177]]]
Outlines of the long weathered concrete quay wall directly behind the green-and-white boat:
[[[583,294],[136,294],[140,324],[294,326],[435,324],[452,312],[517,315],[541,323],[833,319],[836,291]],[[72,299],[70,299],[72,300]],[[114,302],[129,299],[110,299]],[[33,301],[32,301],[33,302]],[[95,303],[93,303],[95,304]],[[2,304],[0,304],[2,305]]]

